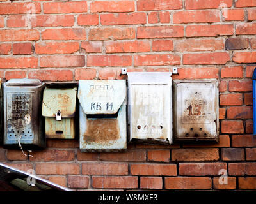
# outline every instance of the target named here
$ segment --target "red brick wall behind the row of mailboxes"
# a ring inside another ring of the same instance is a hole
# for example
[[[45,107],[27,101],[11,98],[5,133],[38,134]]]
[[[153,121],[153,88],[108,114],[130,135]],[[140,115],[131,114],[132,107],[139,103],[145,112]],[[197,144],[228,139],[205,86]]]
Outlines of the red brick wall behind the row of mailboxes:
[[[0,161],[79,190],[256,189],[255,13],[255,0],[1,0],[0,77],[120,79],[121,68],[176,66],[173,79],[217,78],[220,143],[81,153],[77,139],[47,140],[29,158],[1,148]],[[226,185],[218,182],[221,169]]]

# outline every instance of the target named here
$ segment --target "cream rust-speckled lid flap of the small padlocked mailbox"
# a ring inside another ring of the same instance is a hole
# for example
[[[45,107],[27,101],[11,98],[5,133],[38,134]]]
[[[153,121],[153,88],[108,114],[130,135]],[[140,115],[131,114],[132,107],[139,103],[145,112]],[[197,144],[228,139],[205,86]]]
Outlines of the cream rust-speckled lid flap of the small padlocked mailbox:
[[[61,117],[74,117],[76,113],[77,88],[52,89],[45,87],[42,105],[44,117],[56,117],[58,110]]]

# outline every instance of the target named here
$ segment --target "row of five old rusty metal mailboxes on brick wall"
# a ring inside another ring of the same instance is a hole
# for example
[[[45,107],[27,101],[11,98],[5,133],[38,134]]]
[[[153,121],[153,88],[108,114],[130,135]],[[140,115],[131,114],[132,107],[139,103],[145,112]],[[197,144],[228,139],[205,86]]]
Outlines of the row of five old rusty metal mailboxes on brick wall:
[[[4,82],[3,145],[45,147],[45,138],[76,134],[82,152],[126,149],[127,140],[218,142],[218,80],[171,76],[128,73],[127,81],[80,80],[78,89],[27,78]]]

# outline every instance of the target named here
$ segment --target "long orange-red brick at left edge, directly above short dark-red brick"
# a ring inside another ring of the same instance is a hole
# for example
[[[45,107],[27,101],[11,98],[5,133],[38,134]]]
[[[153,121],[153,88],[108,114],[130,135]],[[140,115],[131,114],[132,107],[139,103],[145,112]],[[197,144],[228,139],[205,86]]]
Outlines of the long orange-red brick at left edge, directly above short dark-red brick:
[[[31,41],[39,38],[40,34],[36,30],[0,30],[0,41]]]

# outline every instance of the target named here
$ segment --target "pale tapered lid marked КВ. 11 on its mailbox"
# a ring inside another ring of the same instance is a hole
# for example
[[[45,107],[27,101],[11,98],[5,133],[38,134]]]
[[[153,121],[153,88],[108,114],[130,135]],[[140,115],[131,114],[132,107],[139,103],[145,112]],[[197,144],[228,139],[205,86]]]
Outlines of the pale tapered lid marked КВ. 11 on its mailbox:
[[[79,80],[78,99],[86,114],[116,114],[125,98],[125,80]]]

